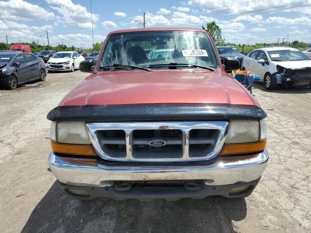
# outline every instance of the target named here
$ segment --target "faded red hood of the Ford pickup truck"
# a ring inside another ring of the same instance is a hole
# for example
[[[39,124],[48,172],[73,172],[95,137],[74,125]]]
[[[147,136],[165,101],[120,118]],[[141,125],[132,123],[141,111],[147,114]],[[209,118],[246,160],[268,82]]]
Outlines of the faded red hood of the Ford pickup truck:
[[[59,106],[138,103],[257,105],[251,94],[222,70],[107,71],[87,77]]]

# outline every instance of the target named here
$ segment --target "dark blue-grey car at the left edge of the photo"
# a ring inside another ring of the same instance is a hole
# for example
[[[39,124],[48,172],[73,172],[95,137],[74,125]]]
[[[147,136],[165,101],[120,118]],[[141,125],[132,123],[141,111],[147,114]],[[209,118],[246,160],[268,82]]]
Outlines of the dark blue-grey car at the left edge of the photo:
[[[44,81],[47,68],[43,60],[33,54],[23,52],[0,53],[0,81],[7,89],[34,80]]]

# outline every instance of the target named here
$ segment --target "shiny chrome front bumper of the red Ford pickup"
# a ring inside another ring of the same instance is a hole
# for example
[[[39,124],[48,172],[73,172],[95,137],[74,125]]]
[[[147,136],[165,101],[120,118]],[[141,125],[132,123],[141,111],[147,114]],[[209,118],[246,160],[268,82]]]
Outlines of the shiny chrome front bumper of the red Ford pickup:
[[[73,186],[105,187],[113,181],[170,180],[205,180],[208,185],[225,185],[259,179],[268,164],[268,159],[268,152],[264,150],[251,158],[245,156],[245,159],[235,161],[217,160],[206,166],[202,166],[202,163],[195,166],[183,163],[179,163],[180,166],[175,166],[177,163],[174,166],[166,166],[165,163],[152,166],[131,166],[132,162],[125,162],[126,166],[110,166],[111,162],[103,162],[97,166],[85,166],[66,162],[52,151],[49,156],[49,165],[60,183]],[[114,164],[118,163],[121,162]]]

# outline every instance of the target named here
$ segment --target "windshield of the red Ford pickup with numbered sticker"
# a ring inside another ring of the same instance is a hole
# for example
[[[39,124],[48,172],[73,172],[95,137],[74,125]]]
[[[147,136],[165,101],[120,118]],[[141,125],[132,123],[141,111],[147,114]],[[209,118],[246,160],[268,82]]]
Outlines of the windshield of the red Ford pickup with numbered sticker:
[[[146,51],[150,51],[146,55]],[[114,64],[153,69],[170,66],[190,68],[185,64],[220,68],[206,33],[191,31],[156,31],[112,34],[101,57],[100,68]],[[114,69],[115,67],[110,67]],[[135,68],[135,67],[133,67]],[[198,68],[191,66],[191,68]]]

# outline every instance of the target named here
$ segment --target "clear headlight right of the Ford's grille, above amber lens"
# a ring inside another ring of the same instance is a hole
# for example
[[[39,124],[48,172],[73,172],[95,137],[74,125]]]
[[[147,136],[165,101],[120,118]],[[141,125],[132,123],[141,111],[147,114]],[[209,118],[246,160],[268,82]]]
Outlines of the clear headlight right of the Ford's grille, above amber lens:
[[[232,120],[225,139],[226,144],[259,141],[258,120]]]

